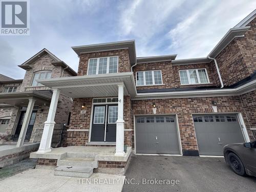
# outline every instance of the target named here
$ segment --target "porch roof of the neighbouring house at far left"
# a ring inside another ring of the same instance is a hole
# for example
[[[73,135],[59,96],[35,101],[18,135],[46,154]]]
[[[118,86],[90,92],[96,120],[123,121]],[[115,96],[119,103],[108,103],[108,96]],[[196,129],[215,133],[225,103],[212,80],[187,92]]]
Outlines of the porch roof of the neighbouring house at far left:
[[[24,91],[13,93],[0,93],[0,103],[4,105],[22,106],[29,103],[29,99],[36,99],[35,104],[41,105],[51,102],[52,93],[50,90],[46,91]],[[3,105],[0,104],[0,105]]]

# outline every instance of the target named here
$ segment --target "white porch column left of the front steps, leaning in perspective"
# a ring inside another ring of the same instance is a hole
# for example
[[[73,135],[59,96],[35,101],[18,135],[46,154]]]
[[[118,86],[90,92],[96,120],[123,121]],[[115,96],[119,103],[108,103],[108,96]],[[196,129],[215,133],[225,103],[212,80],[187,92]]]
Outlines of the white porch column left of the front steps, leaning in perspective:
[[[48,153],[51,152],[52,134],[54,129],[54,118],[56,114],[57,104],[59,99],[59,90],[53,89],[52,100],[45,122],[44,131],[42,132],[42,138],[37,153]]]

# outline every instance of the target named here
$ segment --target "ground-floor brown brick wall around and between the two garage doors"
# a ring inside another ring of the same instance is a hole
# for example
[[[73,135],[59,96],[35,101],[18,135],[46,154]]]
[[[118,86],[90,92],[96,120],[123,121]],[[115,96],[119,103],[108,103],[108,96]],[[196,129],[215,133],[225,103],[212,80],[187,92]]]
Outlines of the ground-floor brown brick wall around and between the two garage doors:
[[[254,94],[255,97],[255,93],[252,94]],[[133,115],[153,114],[152,103],[155,102],[157,106],[157,114],[177,114],[183,150],[197,150],[197,140],[195,136],[192,114],[213,113],[214,111],[211,107],[211,101],[213,100],[217,101],[219,113],[241,112],[243,118],[246,119],[245,110],[243,109],[239,96],[133,100],[132,109]],[[253,134],[249,130],[250,121],[251,120],[245,121],[245,124],[249,137],[253,139]],[[132,127],[134,127],[133,117]],[[132,143],[134,147],[134,132]]]

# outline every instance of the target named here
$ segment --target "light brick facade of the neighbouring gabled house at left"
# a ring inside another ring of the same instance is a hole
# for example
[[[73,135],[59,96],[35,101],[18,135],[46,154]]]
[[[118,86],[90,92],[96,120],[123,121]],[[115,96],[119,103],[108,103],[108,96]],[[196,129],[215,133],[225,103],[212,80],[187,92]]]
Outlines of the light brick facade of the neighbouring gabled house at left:
[[[40,87],[31,87],[31,83],[34,77],[34,73],[40,72],[40,71],[51,71],[52,75],[51,78],[57,78],[61,77],[61,74],[63,72],[64,77],[73,76],[70,72],[67,70],[63,71],[63,67],[55,67],[52,65],[51,62],[55,61],[49,54],[45,54],[38,58],[34,63],[30,64],[30,67],[32,69],[26,70],[26,74],[24,76],[24,80],[22,83],[5,83],[0,84],[0,91],[4,89],[4,87],[7,86],[19,86],[16,92],[24,92],[24,91],[40,91],[40,90],[49,90],[49,88],[45,86]],[[35,106],[37,107],[37,113],[36,118],[33,126],[33,131],[31,134],[30,142],[39,142],[41,140],[41,135],[44,130],[44,122],[47,120],[48,112],[49,112],[49,103],[46,103],[45,105],[37,105],[35,103]],[[26,106],[26,105],[25,105]],[[22,106],[1,106],[0,107],[0,117],[6,114],[11,115],[10,122],[8,124],[8,127],[6,129],[6,134],[1,134],[1,140],[10,140],[11,135],[15,134],[17,123],[19,120],[20,115],[20,108]],[[56,115],[55,115],[55,125],[54,130],[55,132],[58,132],[57,130],[62,129],[63,124],[68,122],[69,113],[71,111],[72,107],[72,100],[71,98],[60,94]],[[54,133],[55,133],[54,132]],[[60,132],[60,131],[59,131]],[[5,137],[4,137],[5,136]],[[54,134],[53,140],[59,139],[59,135]]]

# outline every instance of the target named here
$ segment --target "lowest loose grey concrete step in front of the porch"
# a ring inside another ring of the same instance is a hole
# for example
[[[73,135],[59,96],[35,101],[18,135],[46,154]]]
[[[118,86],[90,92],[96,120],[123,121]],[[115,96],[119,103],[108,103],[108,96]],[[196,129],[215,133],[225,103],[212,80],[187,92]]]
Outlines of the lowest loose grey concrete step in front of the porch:
[[[93,168],[80,166],[58,166],[54,169],[54,175],[66,177],[89,178],[93,174]]]

